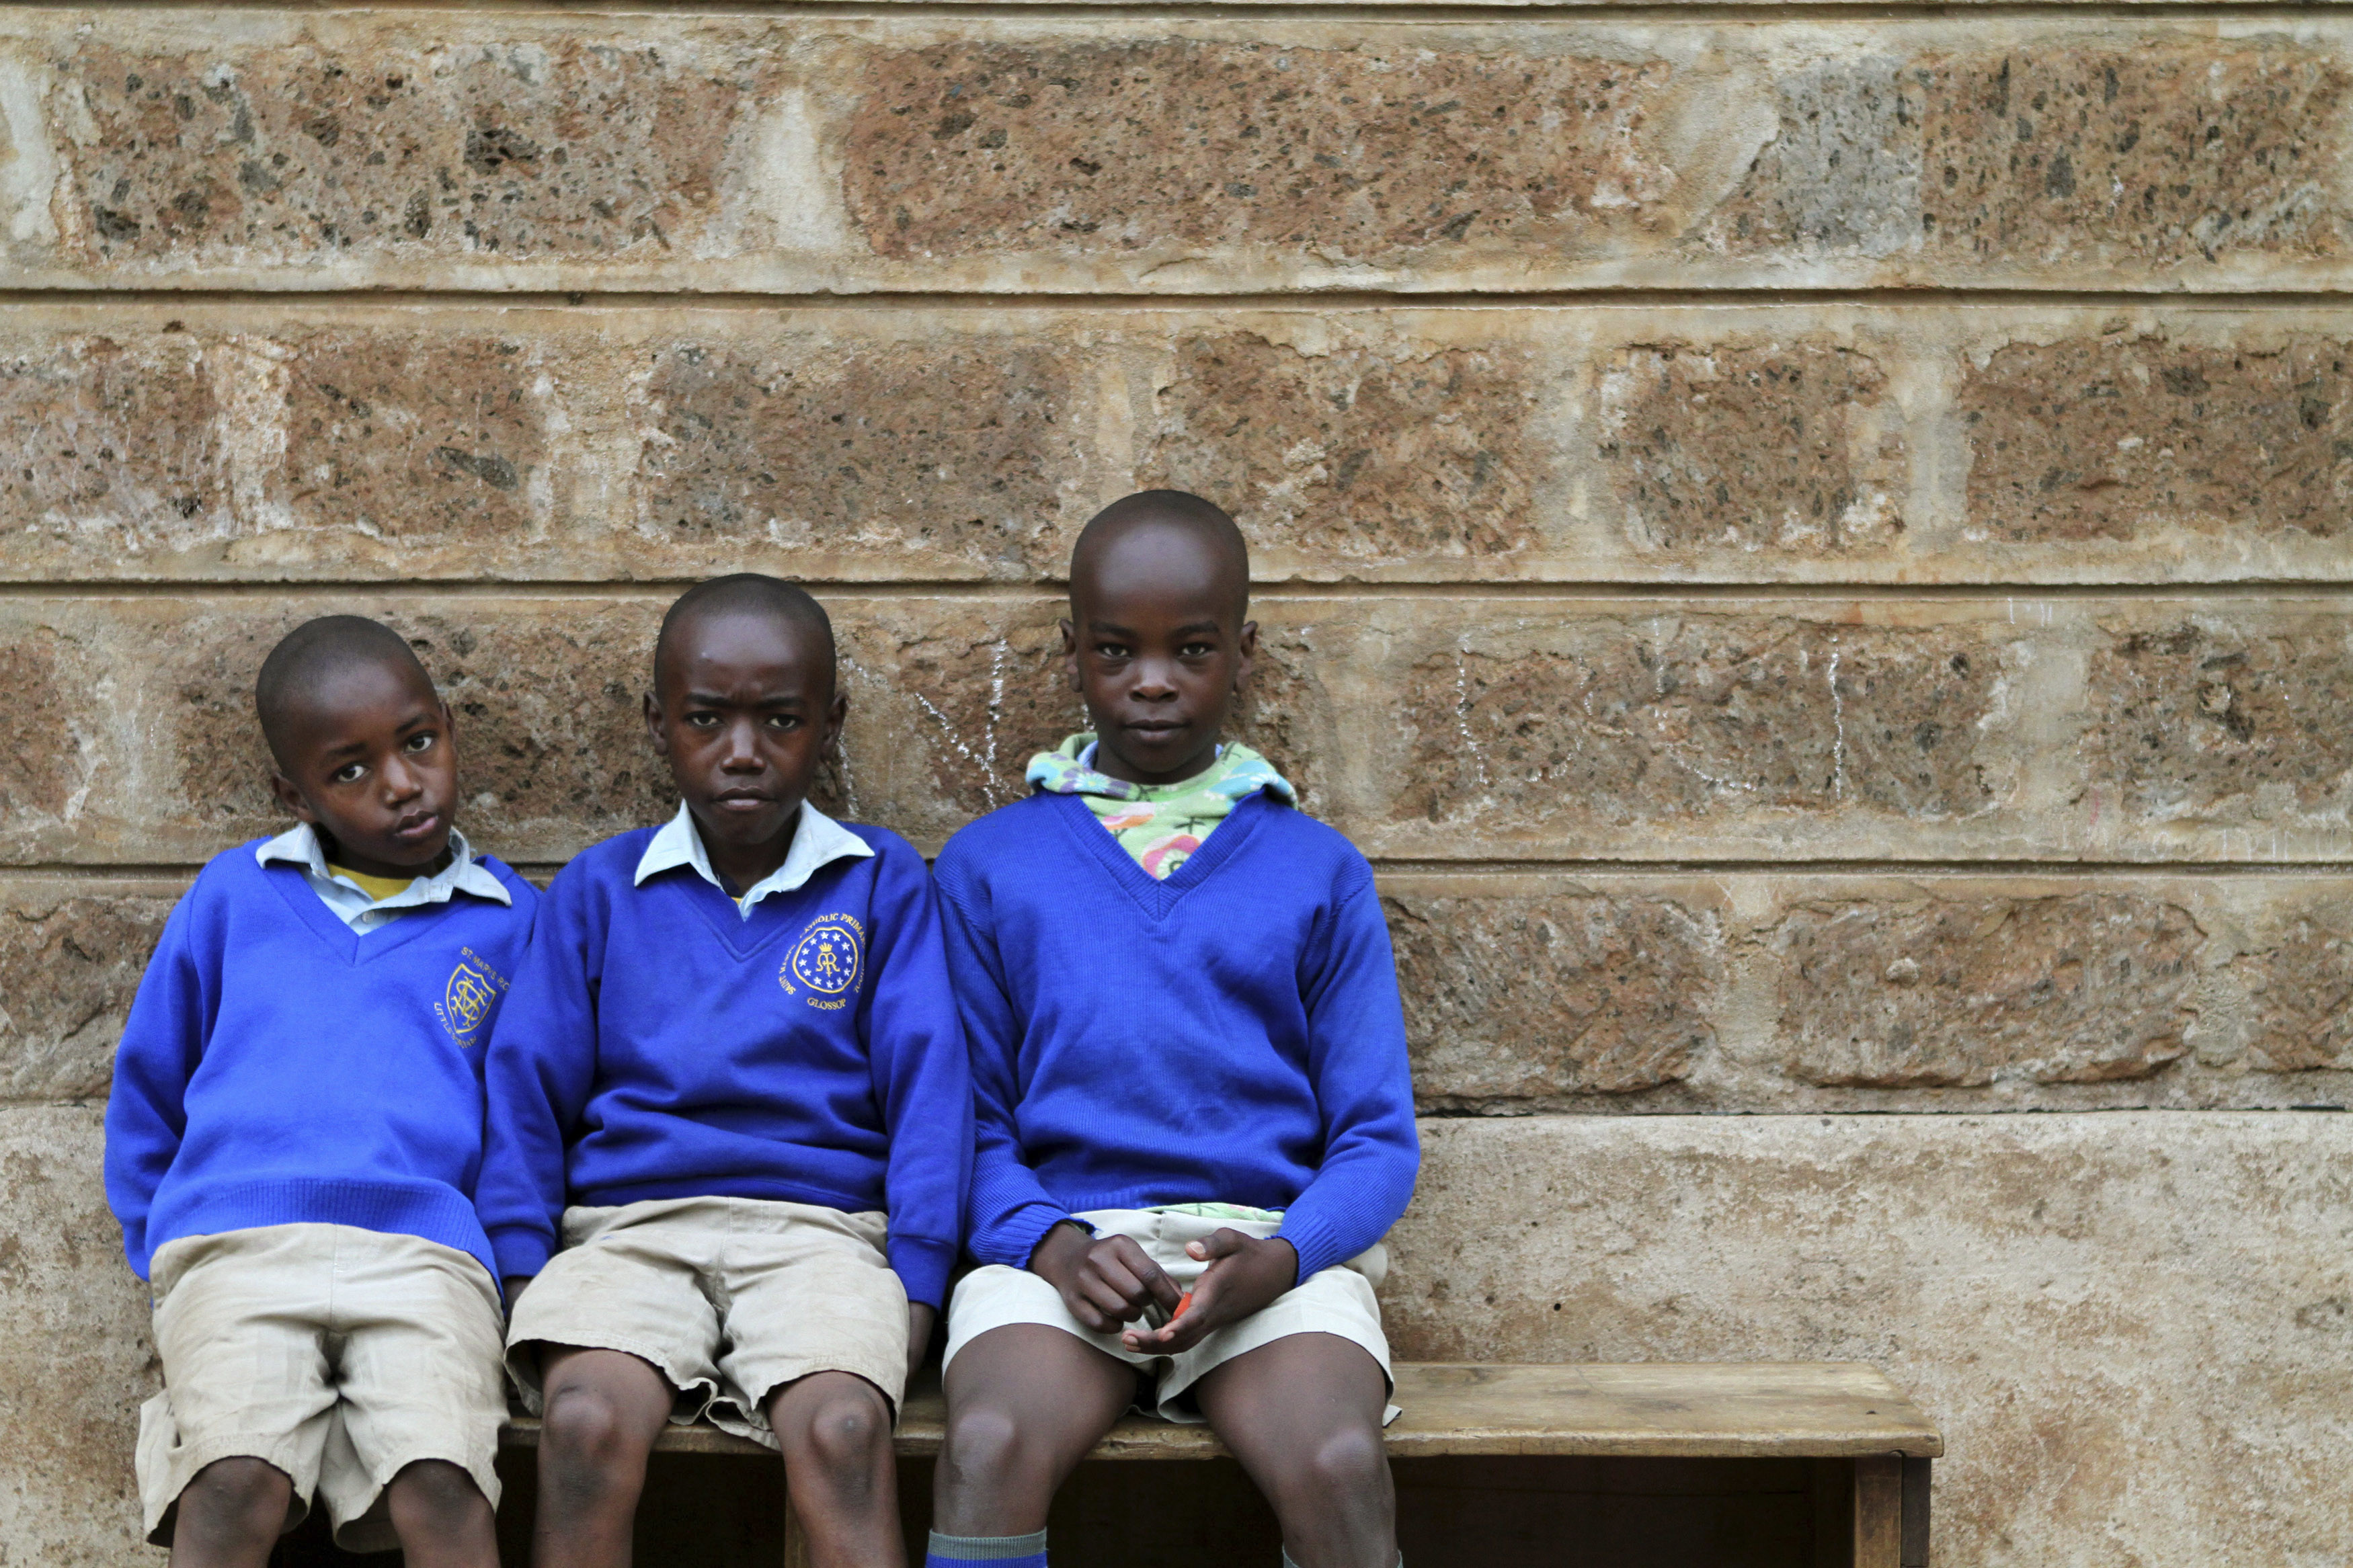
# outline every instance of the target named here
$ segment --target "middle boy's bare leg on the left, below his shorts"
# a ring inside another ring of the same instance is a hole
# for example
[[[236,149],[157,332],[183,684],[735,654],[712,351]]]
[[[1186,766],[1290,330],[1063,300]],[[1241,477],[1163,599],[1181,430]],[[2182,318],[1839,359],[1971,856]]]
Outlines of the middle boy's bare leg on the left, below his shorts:
[[[619,1349],[541,1347],[539,1568],[628,1568],[645,1458],[671,1418],[671,1385]]]

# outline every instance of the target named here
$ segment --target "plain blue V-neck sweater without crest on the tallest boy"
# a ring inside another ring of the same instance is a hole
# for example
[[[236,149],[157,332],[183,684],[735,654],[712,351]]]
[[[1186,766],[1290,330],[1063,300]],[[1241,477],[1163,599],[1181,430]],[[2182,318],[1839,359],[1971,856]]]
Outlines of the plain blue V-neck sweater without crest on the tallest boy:
[[[1299,1276],[1395,1225],[1421,1147],[1372,867],[1266,795],[1155,882],[1073,795],[939,853],[981,1262],[1087,1208],[1280,1208]]]

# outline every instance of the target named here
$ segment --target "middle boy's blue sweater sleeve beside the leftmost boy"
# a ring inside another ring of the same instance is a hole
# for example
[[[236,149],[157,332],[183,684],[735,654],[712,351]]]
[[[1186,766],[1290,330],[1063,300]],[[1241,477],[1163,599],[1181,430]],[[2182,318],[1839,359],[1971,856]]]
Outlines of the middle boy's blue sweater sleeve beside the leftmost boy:
[[[595,971],[588,879],[558,875],[539,900],[532,945],[482,1060],[489,1103],[473,1206],[504,1276],[555,1255],[569,1133],[595,1084]]]

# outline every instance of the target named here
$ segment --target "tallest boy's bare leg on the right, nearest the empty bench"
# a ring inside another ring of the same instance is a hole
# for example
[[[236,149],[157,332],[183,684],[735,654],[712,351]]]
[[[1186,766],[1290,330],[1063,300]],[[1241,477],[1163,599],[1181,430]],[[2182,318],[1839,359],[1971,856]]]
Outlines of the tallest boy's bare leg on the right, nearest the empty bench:
[[[1388,1387],[1362,1345],[1294,1333],[1193,1387],[1275,1507],[1299,1568],[1395,1568],[1398,1490],[1381,1446]]]

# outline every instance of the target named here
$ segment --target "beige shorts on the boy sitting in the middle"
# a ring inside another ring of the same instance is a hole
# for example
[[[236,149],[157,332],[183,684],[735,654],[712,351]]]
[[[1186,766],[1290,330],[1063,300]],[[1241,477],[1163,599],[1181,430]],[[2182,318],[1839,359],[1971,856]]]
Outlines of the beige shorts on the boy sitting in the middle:
[[[769,1448],[760,1406],[809,1373],[856,1373],[892,1410],[906,1392],[906,1286],[880,1211],[767,1199],[567,1208],[565,1251],[515,1300],[506,1371],[541,1413],[539,1347],[624,1349],[675,1392],[671,1422]]]

